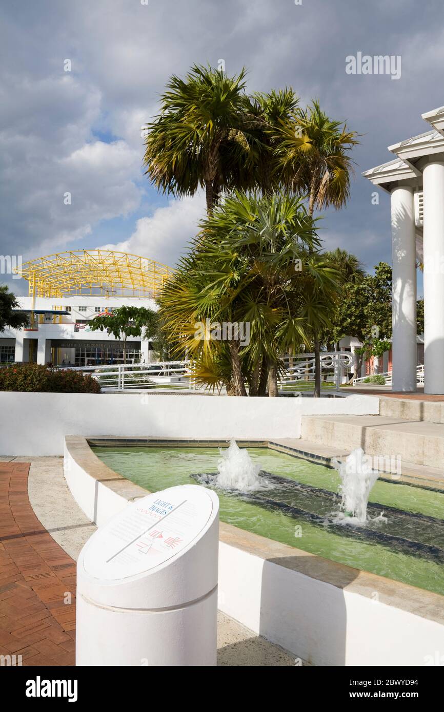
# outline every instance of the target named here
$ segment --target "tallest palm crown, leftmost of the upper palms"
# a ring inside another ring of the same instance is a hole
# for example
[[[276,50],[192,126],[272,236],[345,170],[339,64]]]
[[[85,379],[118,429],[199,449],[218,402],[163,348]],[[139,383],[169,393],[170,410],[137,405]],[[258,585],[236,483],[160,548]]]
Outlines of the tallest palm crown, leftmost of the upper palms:
[[[194,65],[185,79],[173,75],[161,96],[160,114],[147,125],[145,174],[176,197],[205,187],[208,214],[222,190],[254,184],[245,73],[227,77]]]

